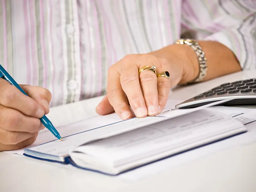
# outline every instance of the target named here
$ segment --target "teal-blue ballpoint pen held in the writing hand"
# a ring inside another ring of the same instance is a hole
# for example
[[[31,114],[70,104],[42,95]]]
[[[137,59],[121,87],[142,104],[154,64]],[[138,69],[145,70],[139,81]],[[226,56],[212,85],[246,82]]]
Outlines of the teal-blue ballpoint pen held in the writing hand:
[[[7,73],[7,71],[0,65],[0,78],[5,79],[8,81],[11,85],[14,85],[17,87],[22,93],[27,95],[27,93],[20,87],[19,84],[16,83],[16,81]],[[27,95],[28,96],[28,95]],[[55,127],[52,125],[52,122],[44,115],[43,117],[40,118],[40,121],[44,126],[49,129],[52,134],[57,137],[59,140],[62,141],[62,138],[60,137],[60,133],[55,129]]]

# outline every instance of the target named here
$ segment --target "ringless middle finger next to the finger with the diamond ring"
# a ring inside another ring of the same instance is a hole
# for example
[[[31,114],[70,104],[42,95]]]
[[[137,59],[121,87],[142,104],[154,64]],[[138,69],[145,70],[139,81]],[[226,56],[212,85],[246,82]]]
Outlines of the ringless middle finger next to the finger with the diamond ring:
[[[135,115],[145,117],[148,111],[141,92],[138,70],[134,60],[124,59],[120,68],[120,82]]]

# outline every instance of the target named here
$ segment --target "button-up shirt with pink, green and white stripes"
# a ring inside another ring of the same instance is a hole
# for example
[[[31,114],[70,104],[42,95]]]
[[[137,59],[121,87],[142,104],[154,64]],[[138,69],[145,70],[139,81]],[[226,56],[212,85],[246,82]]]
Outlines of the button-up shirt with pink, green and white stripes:
[[[218,41],[256,68],[255,0],[0,0],[0,63],[51,106],[106,93],[108,68],[180,37]]]

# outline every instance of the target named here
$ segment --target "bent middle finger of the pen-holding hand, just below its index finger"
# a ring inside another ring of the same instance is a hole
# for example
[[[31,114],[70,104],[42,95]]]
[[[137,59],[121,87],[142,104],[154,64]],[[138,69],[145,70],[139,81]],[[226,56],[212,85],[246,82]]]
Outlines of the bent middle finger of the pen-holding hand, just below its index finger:
[[[41,129],[41,121],[0,105],[0,127],[7,131],[34,133]]]

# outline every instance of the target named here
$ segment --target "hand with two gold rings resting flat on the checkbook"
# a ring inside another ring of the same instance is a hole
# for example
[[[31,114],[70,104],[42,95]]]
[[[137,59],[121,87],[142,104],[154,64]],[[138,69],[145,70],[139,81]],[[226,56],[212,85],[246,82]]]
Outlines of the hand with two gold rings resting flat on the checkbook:
[[[195,67],[186,51],[193,52],[190,47],[173,44],[148,54],[127,55],[112,65],[108,70],[107,95],[97,106],[97,113],[106,115],[115,111],[122,119],[132,117],[131,109],[137,117],[159,114],[165,107],[171,87],[195,76]],[[153,65],[156,74],[152,70],[139,74],[140,68]],[[170,78],[157,77],[165,71]]]

